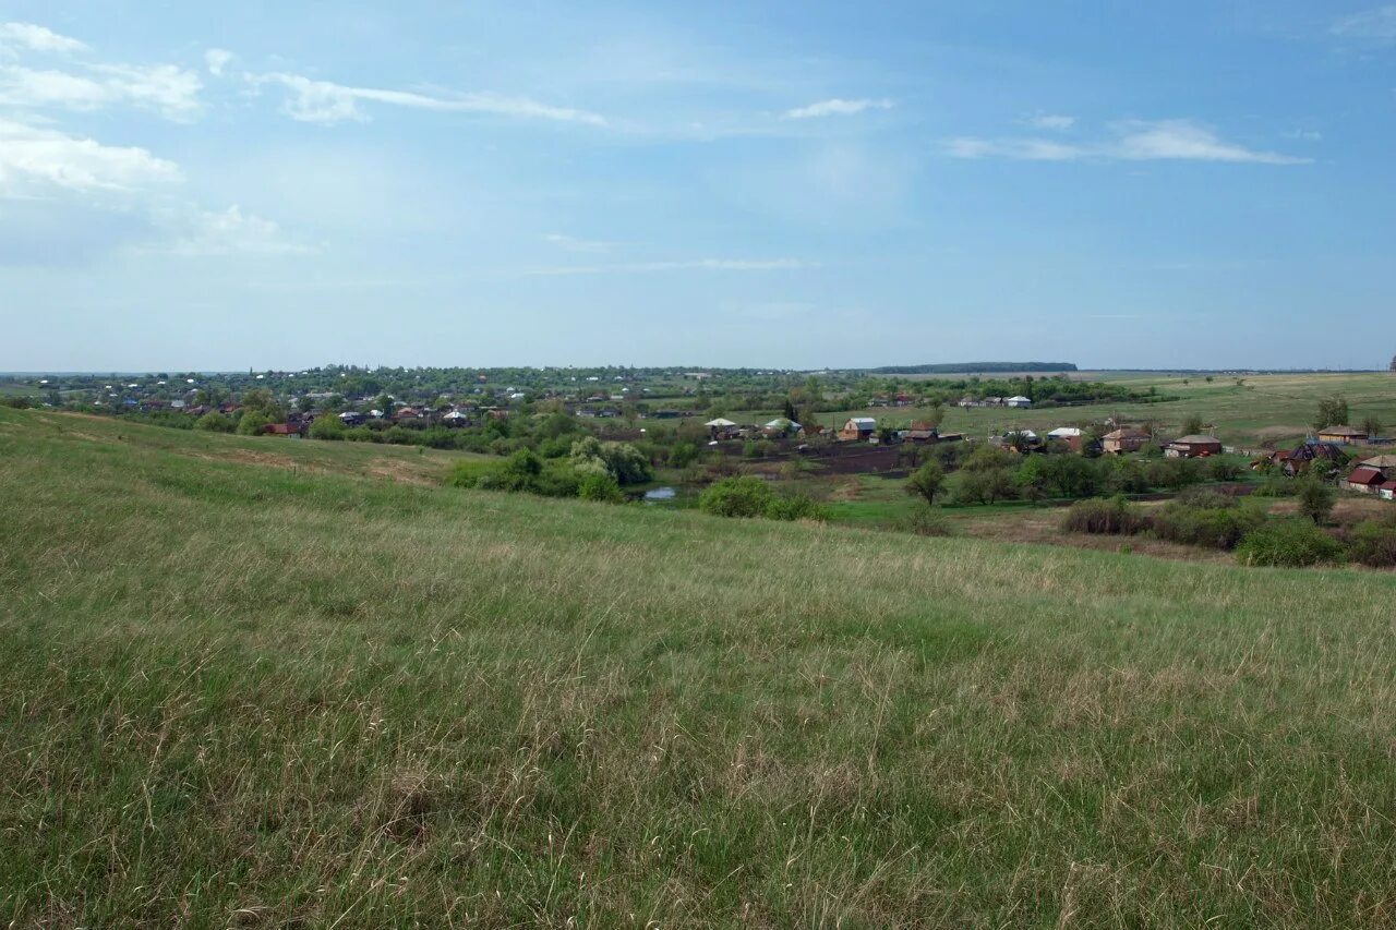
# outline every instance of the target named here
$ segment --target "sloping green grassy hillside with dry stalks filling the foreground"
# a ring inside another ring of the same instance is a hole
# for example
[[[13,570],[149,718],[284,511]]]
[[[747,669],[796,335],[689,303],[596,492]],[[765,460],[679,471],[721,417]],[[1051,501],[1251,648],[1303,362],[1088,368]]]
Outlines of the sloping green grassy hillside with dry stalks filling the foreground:
[[[1396,922],[1392,575],[415,457],[0,411],[0,915]]]

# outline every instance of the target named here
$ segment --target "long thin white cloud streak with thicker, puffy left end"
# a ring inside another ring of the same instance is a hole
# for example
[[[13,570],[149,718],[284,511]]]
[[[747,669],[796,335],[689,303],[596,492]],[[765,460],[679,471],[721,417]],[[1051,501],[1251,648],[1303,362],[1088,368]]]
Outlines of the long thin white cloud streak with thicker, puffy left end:
[[[290,96],[286,101],[286,113],[304,123],[321,123],[325,126],[342,123],[345,120],[367,120],[369,117],[359,109],[360,102],[387,103],[389,106],[406,106],[422,110],[437,110],[448,113],[489,113],[496,116],[514,116],[521,119],[542,119],[561,123],[585,123],[589,126],[606,126],[606,120],[586,110],[577,110],[561,106],[549,106],[528,98],[501,96],[497,94],[461,94],[455,96],[430,96],[413,91],[384,91],[376,88],[346,87],[331,81],[315,81],[300,74],[251,74],[248,80],[254,84],[281,84]]]

